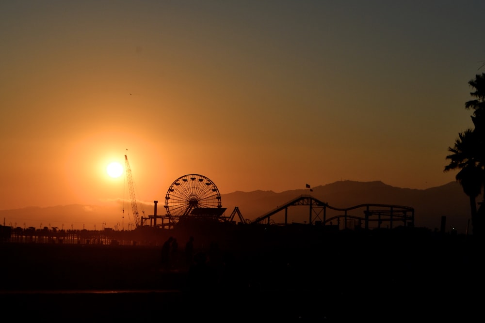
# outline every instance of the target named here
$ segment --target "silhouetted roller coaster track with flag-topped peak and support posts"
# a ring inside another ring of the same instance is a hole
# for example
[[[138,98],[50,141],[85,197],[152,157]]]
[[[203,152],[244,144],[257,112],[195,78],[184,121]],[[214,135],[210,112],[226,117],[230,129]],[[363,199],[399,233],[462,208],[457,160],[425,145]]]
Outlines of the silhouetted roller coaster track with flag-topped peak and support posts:
[[[402,222],[404,226],[414,226],[414,208],[402,205],[391,204],[359,204],[349,208],[337,208],[328,205],[328,203],[315,199],[310,195],[301,195],[293,200],[288,201],[282,206],[276,207],[274,210],[259,216],[251,222],[251,224],[271,224],[271,217],[282,211],[285,212],[285,220],[283,225],[288,224],[288,208],[291,206],[308,206],[308,222],[307,224],[332,224],[337,221],[340,225],[340,220],[344,221],[344,229],[347,229],[349,220],[358,221],[359,226],[364,223],[365,229],[369,229],[369,222],[376,221],[377,227],[380,228],[383,222],[389,222],[392,229],[394,221]],[[327,209],[336,211],[338,214],[327,217]],[[359,212],[360,211],[360,212]]]

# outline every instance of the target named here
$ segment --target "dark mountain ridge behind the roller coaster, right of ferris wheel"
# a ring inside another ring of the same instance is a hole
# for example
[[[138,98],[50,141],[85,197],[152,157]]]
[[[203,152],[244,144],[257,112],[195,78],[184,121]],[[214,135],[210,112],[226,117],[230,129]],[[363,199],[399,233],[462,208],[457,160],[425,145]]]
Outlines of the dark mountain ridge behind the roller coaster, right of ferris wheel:
[[[312,188],[311,195],[336,208],[349,208],[359,204],[392,204],[415,209],[415,225],[431,230],[440,228],[441,216],[446,216],[446,230],[455,228],[465,233],[469,219],[469,198],[457,182],[428,189],[400,188],[380,181],[339,181]],[[245,219],[253,220],[277,206],[302,195],[308,190],[298,189],[275,193],[273,191],[234,192],[222,195],[226,213],[238,206]],[[295,208],[295,207],[293,207]],[[307,212],[305,210],[305,212]],[[300,217],[301,222],[307,216]],[[471,231],[471,227],[469,228]]]

